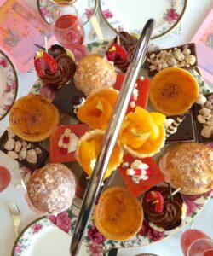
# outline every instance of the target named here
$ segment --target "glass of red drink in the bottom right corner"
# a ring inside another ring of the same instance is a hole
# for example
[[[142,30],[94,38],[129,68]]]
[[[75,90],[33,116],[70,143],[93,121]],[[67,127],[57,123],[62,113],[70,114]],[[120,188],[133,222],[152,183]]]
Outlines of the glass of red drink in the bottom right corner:
[[[181,236],[181,250],[185,256],[213,256],[213,241],[200,230],[186,230]]]

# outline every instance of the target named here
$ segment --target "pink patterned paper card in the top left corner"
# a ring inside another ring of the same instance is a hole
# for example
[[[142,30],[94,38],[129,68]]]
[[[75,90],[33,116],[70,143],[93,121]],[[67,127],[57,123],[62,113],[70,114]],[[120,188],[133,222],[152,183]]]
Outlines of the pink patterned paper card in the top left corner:
[[[51,27],[38,15],[37,9],[21,0],[0,0],[0,49],[20,72],[33,67],[37,51],[34,43],[43,45],[45,36],[49,44],[54,43]]]

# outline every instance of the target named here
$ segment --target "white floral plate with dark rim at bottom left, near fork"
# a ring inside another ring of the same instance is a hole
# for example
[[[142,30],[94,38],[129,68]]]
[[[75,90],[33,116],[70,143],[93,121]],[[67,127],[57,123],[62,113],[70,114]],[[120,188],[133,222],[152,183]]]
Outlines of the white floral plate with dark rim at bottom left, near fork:
[[[67,212],[60,214],[57,225],[45,217],[36,219],[20,232],[11,256],[69,256],[72,238],[63,231],[67,226],[71,226]],[[88,248],[83,242],[79,255],[86,256],[87,251]]]

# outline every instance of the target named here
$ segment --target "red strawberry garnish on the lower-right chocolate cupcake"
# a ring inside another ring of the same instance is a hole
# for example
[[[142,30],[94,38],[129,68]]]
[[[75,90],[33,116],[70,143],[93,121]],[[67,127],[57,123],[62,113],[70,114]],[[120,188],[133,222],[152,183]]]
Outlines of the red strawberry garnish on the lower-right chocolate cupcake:
[[[149,191],[147,195],[145,195],[145,200],[151,202],[151,204],[155,204],[155,212],[159,213],[163,211],[164,197],[159,191]]]

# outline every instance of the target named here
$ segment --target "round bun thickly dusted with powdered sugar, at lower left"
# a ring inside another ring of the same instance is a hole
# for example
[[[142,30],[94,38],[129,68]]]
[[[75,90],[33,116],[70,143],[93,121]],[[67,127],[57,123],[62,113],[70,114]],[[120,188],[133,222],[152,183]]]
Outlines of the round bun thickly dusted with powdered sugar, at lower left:
[[[45,214],[57,214],[71,207],[76,179],[62,164],[47,164],[32,173],[27,194],[33,207]]]

